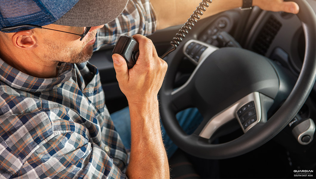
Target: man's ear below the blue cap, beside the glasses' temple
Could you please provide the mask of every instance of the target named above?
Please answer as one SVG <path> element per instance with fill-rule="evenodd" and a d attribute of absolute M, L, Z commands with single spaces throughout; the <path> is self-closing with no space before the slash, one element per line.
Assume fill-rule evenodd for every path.
<path fill-rule="evenodd" d="M 15 47 L 23 50 L 32 50 L 37 47 L 37 40 L 33 30 L 22 30 L 12 36 L 12 43 Z"/>

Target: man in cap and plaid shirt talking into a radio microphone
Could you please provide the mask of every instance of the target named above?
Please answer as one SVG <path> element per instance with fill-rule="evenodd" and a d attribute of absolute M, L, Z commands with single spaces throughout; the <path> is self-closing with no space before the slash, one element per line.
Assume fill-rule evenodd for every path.
<path fill-rule="evenodd" d="M 152 42 L 134 35 L 140 55 L 130 70 L 112 56 L 129 103 L 129 162 L 99 73 L 85 62 L 95 39 L 98 49 L 122 34 L 148 35 L 183 23 L 198 3 L 0 0 L 1 178 L 169 178 L 157 101 L 167 64 Z M 296 3 L 282 0 L 252 5 L 298 12 Z M 214 0 L 203 17 L 240 6 L 241 0 Z"/>

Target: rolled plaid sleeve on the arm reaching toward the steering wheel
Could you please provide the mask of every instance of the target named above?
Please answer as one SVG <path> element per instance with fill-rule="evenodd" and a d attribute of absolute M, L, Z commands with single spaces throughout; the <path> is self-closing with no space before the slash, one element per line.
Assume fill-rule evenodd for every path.
<path fill-rule="evenodd" d="M 156 31 L 155 11 L 149 0 L 129 0 L 121 15 L 98 29 L 94 51 L 114 45 L 121 35 L 150 35 Z"/>

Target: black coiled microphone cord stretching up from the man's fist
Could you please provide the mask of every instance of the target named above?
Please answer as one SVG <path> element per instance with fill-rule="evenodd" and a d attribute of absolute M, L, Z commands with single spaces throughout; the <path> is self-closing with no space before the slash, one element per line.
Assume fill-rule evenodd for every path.
<path fill-rule="evenodd" d="M 194 27 L 194 24 L 197 23 L 197 20 L 201 18 L 200 15 L 203 15 L 202 11 L 206 10 L 205 7 L 209 7 L 208 3 L 212 3 L 212 0 L 203 0 L 199 6 L 197 6 L 197 9 L 194 10 L 187 22 L 185 22 L 185 24 L 181 27 L 179 33 L 177 33 L 176 36 L 173 37 L 173 41 L 170 42 L 170 45 L 173 46 L 173 48 L 163 54 L 161 59 L 165 58 L 170 52 L 173 52 L 177 46 L 179 46 L 180 42 L 182 42 L 185 38 L 185 35 L 189 34 L 189 30 L 191 30 Z"/>

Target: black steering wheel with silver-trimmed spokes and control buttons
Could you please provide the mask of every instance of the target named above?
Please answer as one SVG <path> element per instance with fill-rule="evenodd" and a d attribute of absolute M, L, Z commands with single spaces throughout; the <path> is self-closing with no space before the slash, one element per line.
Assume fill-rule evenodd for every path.
<path fill-rule="evenodd" d="M 185 40 L 169 55 L 167 74 L 159 92 L 161 120 L 167 134 L 183 151 L 208 159 L 245 154 L 272 139 L 300 110 L 316 77 L 316 15 L 305 0 L 292 1 L 300 6 L 297 16 L 306 40 L 303 66 L 293 89 L 285 71 L 245 49 L 218 49 L 197 40 Z M 196 44 L 206 50 L 189 80 L 173 89 L 183 53 Z M 279 108 L 268 120 L 267 111 L 273 106 Z M 189 107 L 198 108 L 204 119 L 191 135 L 182 130 L 175 117 Z M 244 134 L 226 143 L 211 144 L 214 133 L 234 119 Z"/>

